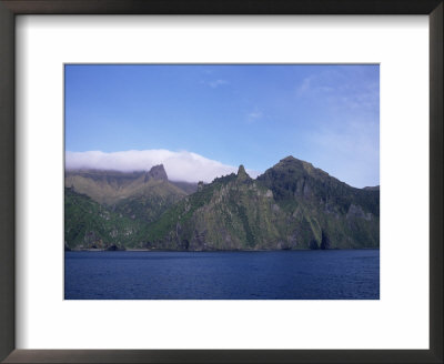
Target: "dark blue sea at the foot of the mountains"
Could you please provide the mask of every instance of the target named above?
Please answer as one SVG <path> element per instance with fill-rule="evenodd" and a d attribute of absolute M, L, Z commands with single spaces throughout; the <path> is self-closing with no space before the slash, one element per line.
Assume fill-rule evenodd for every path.
<path fill-rule="evenodd" d="M 65 252 L 65 300 L 379 300 L 380 251 Z"/>

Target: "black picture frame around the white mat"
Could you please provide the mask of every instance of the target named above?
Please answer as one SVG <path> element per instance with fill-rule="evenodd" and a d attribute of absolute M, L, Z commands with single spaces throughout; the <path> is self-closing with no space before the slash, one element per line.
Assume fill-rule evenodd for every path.
<path fill-rule="evenodd" d="M 0 0 L 0 360 L 4 363 L 443 363 L 443 0 Z M 16 350 L 14 22 L 18 14 L 427 14 L 430 350 Z"/>

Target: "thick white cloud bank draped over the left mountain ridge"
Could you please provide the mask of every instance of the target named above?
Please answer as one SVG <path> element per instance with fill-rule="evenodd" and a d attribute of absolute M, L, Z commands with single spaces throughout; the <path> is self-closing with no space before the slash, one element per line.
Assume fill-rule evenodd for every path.
<path fill-rule="evenodd" d="M 238 166 L 226 165 L 188 151 L 172 152 L 158 149 L 112 153 L 101 151 L 65 153 L 65 168 L 69 170 L 149 171 L 157 164 L 163 164 L 171 181 L 211 182 L 216 176 L 238 172 Z M 259 175 L 255 171 L 246 171 L 252 178 Z"/>

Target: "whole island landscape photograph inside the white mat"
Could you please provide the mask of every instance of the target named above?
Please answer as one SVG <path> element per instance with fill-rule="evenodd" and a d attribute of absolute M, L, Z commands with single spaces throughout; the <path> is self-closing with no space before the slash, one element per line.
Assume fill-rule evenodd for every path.
<path fill-rule="evenodd" d="M 63 73 L 64 300 L 380 300 L 379 64 Z"/>

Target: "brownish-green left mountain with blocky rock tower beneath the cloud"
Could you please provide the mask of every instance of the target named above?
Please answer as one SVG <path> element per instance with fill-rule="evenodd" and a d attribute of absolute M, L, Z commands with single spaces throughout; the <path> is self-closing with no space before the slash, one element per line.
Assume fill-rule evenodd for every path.
<path fill-rule="evenodd" d="M 67 171 L 64 183 L 67 249 L 139 246 L 148 224 L 188 194 L 162 164 L 148 172 Z"/>

